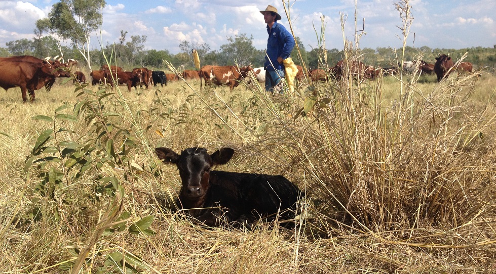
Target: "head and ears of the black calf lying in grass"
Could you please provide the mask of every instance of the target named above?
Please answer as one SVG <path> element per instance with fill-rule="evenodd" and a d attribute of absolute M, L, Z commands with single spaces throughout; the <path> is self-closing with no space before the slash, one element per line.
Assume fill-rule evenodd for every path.
<path fill-rule="evenodd" d="M 222 148 L 208 154 L 204 148 L 188 148 L 175 153 L 169 148 L 156 148 L 155 153 L 166 164 L 175 164 L 182 181 L 180 198 L 200 199 L 209 188 L 210 168 L 227 163 L 234 150 Z"/>

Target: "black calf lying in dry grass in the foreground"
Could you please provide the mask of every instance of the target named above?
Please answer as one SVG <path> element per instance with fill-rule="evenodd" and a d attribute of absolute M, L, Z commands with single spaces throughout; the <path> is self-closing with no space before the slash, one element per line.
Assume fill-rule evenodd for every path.
<path fill-rule="evenodd" d="M 209 155 L 204 148 L 188 148 L 179 155 L 168 148 L 156 148 L 155 153 L 179 169 L 182 188 L 178 207 L 205 225 L 240 227 L 260 218 L 273 220 L 278 212 L 281 220 L 294 219 L 300 191 L 284 176 L 210 170 L 227 163 L 233 149 L 223 148 Z"/>

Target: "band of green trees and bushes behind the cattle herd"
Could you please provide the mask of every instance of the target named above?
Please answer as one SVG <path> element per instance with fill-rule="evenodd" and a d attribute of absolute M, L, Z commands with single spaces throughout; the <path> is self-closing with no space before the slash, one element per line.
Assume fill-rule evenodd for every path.
<path fill-rule="evenodd" d="M 246 34 L 239 34 L 234 37 L 228 37 L 228 43 L 220 46 L 219 50 L 212 50 L 207 43 L 193 43 L 182 41 L 179 44 L 181 52 L 172 54 L 168 50 L 144 50 L 146 43 L 146 35 L 132 35 L 129 39 L 126 37 L 127 31 L 121 31 L 119 43 L 108 43 L 103 49 L 105 56 L 117 62 L 122 67 L 148 67 L 152 69 L 165 69 L 164 60 L 171 63 L 174 67 L 184 69 L 194 69 L 195 65 L 191 54 L 192 49 L 196 49 L 200 55 L 202 65 L 248 65 L 253 67 L 261 67 L 264 63 L 265 50 L 257 50 L 253 46 L 253 36 L 248 37 Z M 301 40 L 296 37 L 296 42 L 299 45 L 300 55 L 296 52 L 296 47 L 291 54 L 292 59 L 296 64 L 301 64 L 302 61 L 307 65 L 307 68 L 320 68 L 325 66 L 322 60 L 319 62 L 319 55 L 322 54 L 321 49 L 306 50 Z M 82 54 L 75 47 L 60 47 L 52 36 L 20 39 L 6 43 L 6 48 L 0 48 L 0 56 L 19 56 L 31 55 L 38 58 L 47 56 L 60 56 L 64 58 L 72 58 L 85 62 Z M 441 54 L 449 54 L 456 61 L 465 53 L 468 53 L 464 61 L 473 63 L 476 67 L 496 67 L 496 45 L 493 48 L 472 47 L 466 49 L 431 49 L 429 47 L 406 47 L 405 61 L 411 61 L 422 57 L 428 63 L 435 63 L 435 58 Z M 360 50 L 361 61 L 367 65 L 376 65 L 381 67 L 391 67 L 398 62 L 395 52 L 391 48 L 364 48 Z M 322 55 L 321 55 L 322 56 Z M 326 50 L 327 64 L 332 66 L 337 61 L 343 59 L 342 50 L 331 49 Z M 105 64 L 105 59 L 102 50 L 89 51 L 89 58 L 92 60 L 92 69 L 97 69 L 102 64 Z"/>

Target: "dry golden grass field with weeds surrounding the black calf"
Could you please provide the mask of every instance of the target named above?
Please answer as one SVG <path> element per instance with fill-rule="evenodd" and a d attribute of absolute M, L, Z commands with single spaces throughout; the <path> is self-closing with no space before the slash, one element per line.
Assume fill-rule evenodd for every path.
<path fill-rule="evenodd" d="M 494 273 L 496 76 L 411 79 L 276 97 L 70 81 L 32 104 L 2 89 L 0 272 Z M 180 178 L 153 151 L 193 146 L 294 181 L 300 225 L 207 230 L 171 213 Z"/>

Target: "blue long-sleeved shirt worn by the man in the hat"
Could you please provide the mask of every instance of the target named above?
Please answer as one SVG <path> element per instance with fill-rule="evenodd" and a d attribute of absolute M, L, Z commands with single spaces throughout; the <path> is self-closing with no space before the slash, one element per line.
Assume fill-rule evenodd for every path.
<path fill-rule="evenodd" d="M 278 22 L 272 25 L 272 29 L 267 26 L 267 33 L 269 33 L 269 39 L 267 39 L 267 55 L 263 66 L 266 70 L 274 70 L 272 65 L 278 70 L 284 70 L 284 64 L 279 64 L 277 58 L 280 56 L 284 60 L 289 57 L 294 47 L 293 35 Z"/>

